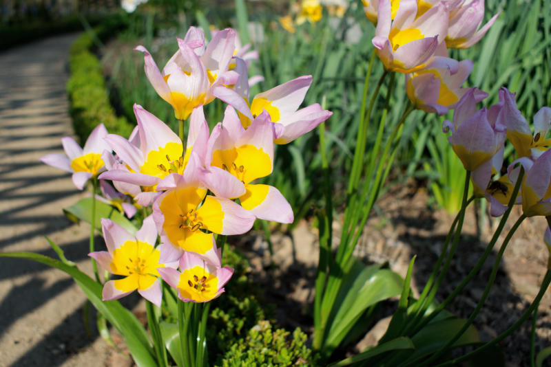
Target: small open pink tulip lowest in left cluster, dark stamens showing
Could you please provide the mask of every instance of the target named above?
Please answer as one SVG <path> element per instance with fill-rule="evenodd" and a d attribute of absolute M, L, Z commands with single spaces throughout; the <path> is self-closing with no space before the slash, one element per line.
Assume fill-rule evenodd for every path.
<path fill-rule="evenodd" d="M 185 252 L 180 258 L 180 271 L 165 267 L 158 272 L 170 287 L 178 289 L 180 300 L 208 302 L 224 292 L 223 287 L 231 278 L 233 269 Z"/>

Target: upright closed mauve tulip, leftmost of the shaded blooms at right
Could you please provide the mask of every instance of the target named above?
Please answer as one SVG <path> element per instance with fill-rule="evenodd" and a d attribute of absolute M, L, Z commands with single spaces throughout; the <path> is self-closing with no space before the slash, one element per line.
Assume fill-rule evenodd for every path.
<path fill-rule="evenodd" d="M 495 109 L 476 111 L 477 93 L 476 88 L 465 93 L 453 113 L 453 124 L 446 120 L 443 125 L 444 133 L 452 132 L 448 140 L 453 151 L 470 171 L 492 159 L 506 138 L 506 127 L 497 121 Z"/>

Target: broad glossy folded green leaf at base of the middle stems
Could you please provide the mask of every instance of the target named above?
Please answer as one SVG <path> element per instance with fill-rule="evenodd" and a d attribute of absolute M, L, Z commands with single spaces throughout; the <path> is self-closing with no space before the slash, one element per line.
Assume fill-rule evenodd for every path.
<path fill-rule="evenodd" d="M 339 346 L 364 311 L 372 304 L 398 296 L 402 283 L 402 278 L 389 269 L 380 269 L 380 265 L 365 266 L 355 260 L 344 276 L 339 294 L 342 302 L 335 304 L 337 312 L 324 348 L 332 351 Z"/>

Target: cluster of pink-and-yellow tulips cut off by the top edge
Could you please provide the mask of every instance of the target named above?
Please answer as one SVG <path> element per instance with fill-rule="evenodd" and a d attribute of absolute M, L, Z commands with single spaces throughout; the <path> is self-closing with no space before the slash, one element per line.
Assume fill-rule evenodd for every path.
<path fill-rule="evenodd" d="M 498 14 L 480 27 L 484 0 L 363 0 L 377 25 L 373 45 L 389 71 L 406 74 L 412 104 L 444 115 L 468 91 L 461 85 L 472 71 L 470 60 L 448 58 L 448 48 L 477 43 Z"/>

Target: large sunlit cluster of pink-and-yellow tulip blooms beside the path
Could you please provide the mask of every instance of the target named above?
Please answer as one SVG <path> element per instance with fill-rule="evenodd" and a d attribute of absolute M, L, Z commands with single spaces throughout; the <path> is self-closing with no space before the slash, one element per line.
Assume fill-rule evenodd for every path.
<path fill-rule="evenodd" d="M 255 181 L 271 174 L 275 144 L 311 131 L 331 112 L 319 104 L 299 109 L 311 76 L 249 101 L 249 86 L 261 80 L 249 79 L 250 61 L 258 57 L 249 47 L 241 47 L 229 28 L 216 32 L 207 44 L 202 30 L 191 27 L 185 38 L 178 38 L 178 52 L 162 72 L 145 47 L 136 47 L 144 54 L 145 74 L 159 96 L 171 104 L 176 118 L 189 118 L 185 142 L 134 104 L 137 126 L 129 139 L 107 133 L 100 124 L 83 149 L 65 137 L 67 157 L 42 158 L 74 172 L 73 181 L 81 190 L 89 179 L 99 179 L 102 200 L 129 217 L 137 208 L 149 214 L 136 234 L 102 220 L 107 251 L 90 256 L 118 276 L 105 282 L 104 300 L 137 289 L 159 306 L 160 278 L 178 290 L 181 300 L 212 300 L 233 273 L 222 267 L 218 236 L 243 234 L 257 218 L 293 222 L 293 210 L 281 192 Z M 229 105 L 222 122 L 210 131 L 203 106 L 215 98 Z"/>

